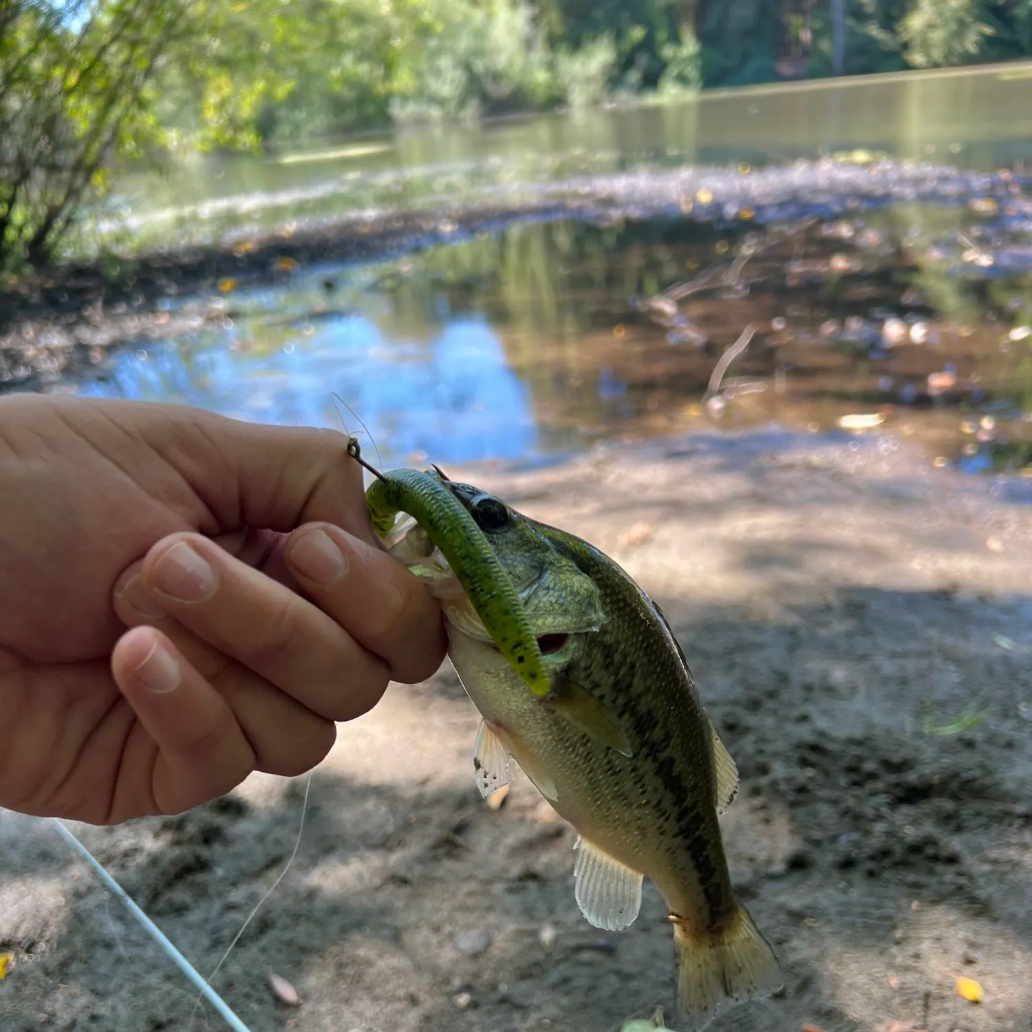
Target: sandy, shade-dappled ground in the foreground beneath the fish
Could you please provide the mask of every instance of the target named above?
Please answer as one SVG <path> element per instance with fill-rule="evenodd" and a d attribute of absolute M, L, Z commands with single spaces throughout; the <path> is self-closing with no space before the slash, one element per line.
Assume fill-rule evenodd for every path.
<path fill-rule="evenodd" d="M 774 431 L 449 473 L 588 538 L 672 619 L 741 769 L 734 880 L 786 974 L 714 1032 L 1032 1029 L 1032 508 L 889 439 Z M 969 706 L 975 727 L 929 733 Z M 499 810 L 480 801 L 476 727 L 446 668 L 341 728 L 297 859 L 216 979 L 254 1032 L 669 1013 L 658 895 L 626 932 L 586 925 L 572 831 L 522 777 Z M 303 788 L 255 776 L 185 816 L 74 827 L 208 972 L 289 857 Z M 3 813 L 0 850 L 3 1032 L 224 1027 L 191 1018 L 184 978 L 51 826 Z"/>

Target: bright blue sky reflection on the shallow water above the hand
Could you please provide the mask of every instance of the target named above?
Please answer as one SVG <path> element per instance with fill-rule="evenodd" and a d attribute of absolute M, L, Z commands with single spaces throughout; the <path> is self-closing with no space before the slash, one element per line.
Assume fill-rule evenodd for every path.
<path fill-rule="evenodd" d="M 460 315 L 426 341 L 389 340 L 369 318 L 324 313 L 287 325 L 225 319 L 195 340 L 126 350 L 79 393 L 178 401 L 236 419 L 337 426 L 340 395 L 388 464 L 515 458 L 537 449 L 529 391 L 487 321 Z"/>

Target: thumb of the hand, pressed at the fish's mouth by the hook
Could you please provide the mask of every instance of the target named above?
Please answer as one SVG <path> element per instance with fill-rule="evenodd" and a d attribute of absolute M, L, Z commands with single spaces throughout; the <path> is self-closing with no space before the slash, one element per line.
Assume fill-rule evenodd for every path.
<path fill-rule="evenodd" d="M 152 447 L 186 478 L 221 527 L 290 531 L 325 521 L 377 543 L 362 471 L 348 454 L 345 434 L 160 408 L 166 413 Z M 175 423 L 172 434 L 169 418 Z"/>

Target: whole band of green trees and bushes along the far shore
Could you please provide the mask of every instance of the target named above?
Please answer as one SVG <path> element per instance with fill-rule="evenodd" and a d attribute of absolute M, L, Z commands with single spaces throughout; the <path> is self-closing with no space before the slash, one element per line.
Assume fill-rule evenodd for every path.
<path fill-rule="evenodd" d="M 0 0 L 0 269 L 168 152 L 1020 57 L 1032 0 Z"/>

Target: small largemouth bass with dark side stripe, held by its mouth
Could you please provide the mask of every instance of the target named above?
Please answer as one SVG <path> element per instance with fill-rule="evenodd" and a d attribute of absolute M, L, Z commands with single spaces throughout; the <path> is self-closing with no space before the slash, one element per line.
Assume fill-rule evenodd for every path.
<path fill-rule="evenodd" d="M 437 467 L 425 476 L 494 553 L 547 676 L 547 694 L 527 690 L 426 528 L 399 519 L 385 546 L 439 600 L 449 658 L 482 717 L 473 759 L 481 795 L 510 783 L 515 761 L 573 826 L 574 896 L 598 928 L 633 924 L 651 879 L 673 926 L 677 1017 L 691 1032 L 777 991 L 780 965 L 735 897 L 718 823 L 738 771 L 663 611 L 588 542 Z"/>

